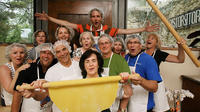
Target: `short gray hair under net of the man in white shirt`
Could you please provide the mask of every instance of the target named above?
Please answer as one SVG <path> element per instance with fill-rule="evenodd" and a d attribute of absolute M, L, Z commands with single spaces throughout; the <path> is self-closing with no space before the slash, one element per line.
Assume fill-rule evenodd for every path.
<path fill-rule="evenodd" d="M 58 40 L 58 41 L 56 41 L 56 42 L 54 43 L 54 45 L 53 45 L 54 53 L 56 53 L 56 52 L 55 52 L 55 49 L 56 49 L 56 47 L 59 46 L 59 45 L 65 46 L 65 47 L 68 49 L 68 51 L 71 53 L 71 47 L 69 46 L 69 44 L 68 44 L 68 42 L 67 42 L 66 40 Z"/>

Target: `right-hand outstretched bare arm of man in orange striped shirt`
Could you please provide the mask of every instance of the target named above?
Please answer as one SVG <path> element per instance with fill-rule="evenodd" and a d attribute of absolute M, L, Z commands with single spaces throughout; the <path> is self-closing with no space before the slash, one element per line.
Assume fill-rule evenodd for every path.
<path fill-rule="evenodd" d="M 159 25 L 153 24 L 150 25 L 150 22 L 147 22 L 146 27 L 144 28 L 131 28 L 131 29 L 119 29 L 118 34 L 134 34 L 140 32 L 155 32 L 159 29 Z"/>

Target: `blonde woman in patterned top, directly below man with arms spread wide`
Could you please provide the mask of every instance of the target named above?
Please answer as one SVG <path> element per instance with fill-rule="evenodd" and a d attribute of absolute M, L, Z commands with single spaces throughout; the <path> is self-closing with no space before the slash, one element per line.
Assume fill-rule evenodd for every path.
<path fill-rule="evenodd" d="M 90 32 L 83 32 L 80 35 L 79 38 L 79 42 L 81 44 L 82 47 L 77 48 L 74 52 L 73 52 L 73 58 L 77 61 L 80 60 L 82 54 L 89 50 L 89 49 L 93 49 L 95 50 L 95 48 L 93 48 L 94 45 L 94 38 L 92 36 L 92 34 Z"/>

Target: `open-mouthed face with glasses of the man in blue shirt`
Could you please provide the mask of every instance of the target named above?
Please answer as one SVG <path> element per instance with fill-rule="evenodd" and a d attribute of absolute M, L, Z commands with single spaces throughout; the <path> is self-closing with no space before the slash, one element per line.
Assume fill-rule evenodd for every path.
<path fill-rule="evenodd" d="M 142 44 L 137 38 L 133 38 L 127 42 L 127 48 L 132 56 L 136 56 L 141 52 Z"/>

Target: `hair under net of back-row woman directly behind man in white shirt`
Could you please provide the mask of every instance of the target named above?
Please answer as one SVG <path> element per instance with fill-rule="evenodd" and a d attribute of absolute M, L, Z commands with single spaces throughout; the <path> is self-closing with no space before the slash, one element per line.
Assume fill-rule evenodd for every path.
<path fill-rule="evenodd" d="M 72 29 L 71 27 L 68 27 L 68 26 L 58 26 L 57 29 L 56 29 L 56 32 L 55 32 L 55 37 L 56 39 L 58 40 L 58 31 L 60 30 L 60 28 L 65 28 L 68 30 L 70 36 L 69 36 L 69 41 L 72 40 L 72 38 L 74 37 L 75 35 L 75 32 L 74 32 L 74 29 Z"/>

